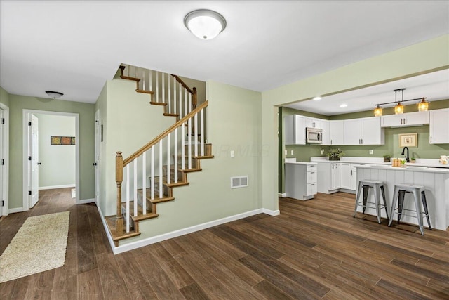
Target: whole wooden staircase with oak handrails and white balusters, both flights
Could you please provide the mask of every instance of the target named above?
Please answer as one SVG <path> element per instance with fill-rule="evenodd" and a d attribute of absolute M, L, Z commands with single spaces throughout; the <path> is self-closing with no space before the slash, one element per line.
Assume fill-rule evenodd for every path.
<path fill-rule="evenodd" d="M 189 185 L 187 174 L 213 158 L 204 138 L 208 101 L 197 105 L 195 88 L 176 75 L 130 65 L 119 69 L 122 79 L 136 82 L 137 93 L 148 94 L 151 105 L 163 106 L 163 115 L 177 121 L 130 157 L 116 152 L 116 215 L 105 218 L 116 247 L 140 235 L 139 223 L 157 218 L 157 205 L 175 200 L 173 189 Z"/>

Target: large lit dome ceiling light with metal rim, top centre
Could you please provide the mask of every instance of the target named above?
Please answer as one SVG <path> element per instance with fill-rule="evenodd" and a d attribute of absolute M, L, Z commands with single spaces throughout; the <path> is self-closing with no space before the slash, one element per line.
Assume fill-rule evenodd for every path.
<path fill-rule="evenodd" d="M 216 11 L 198 9 L 187 13 L 184 25 L 199 39 L 213 39 L 225 30 L 226 20 Z"/>

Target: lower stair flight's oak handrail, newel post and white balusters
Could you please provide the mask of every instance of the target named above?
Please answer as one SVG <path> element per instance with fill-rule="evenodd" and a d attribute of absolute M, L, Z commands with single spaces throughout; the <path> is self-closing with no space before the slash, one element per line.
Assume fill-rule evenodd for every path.
<path fill-rule="evenodd" d="M 114 224 L 111 224 L 114 227 L 113 240 L 116 245 L 122 238 L 140 234 L 138 221 L 159 216 L 156 204 L 174 200 L 171 189 L 188 185 L 187 173 L 201 171 L 199 159 L 213 157 L 211 145 L 205 144 L 203 134 L 204 111 L 207 106 L 208 101 L 201 103 L 128 158 L 123 159 L 121 152 L 116 152 L 116 216 Z M 186 134 L 185 124 L 192 128 L 193 119 L 195 123 L 199 119 L 199 124 L 194 127 L 198 130 L 195 129 L 193 134 Z M 180 134 L 178 131 L 181 131 Z M 156 155 L 158 152 L 159 155 Z M 159 176 L 156 176 L 157 171 Z M 126 190 L 124 195 L 123 188 Z M 125 198 L 124 202 L 122 196 Z"/>

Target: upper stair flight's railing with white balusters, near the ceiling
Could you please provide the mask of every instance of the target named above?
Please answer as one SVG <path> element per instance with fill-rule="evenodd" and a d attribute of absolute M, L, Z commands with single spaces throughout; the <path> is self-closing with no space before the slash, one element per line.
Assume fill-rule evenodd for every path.
<path fill-rule="evenodd" d="M 164 106 L 163 115 L 182 119 L 196 108 L 196 88 L 190 89 L 177 75 L 125 64 L 119 69 L 120 78 L 135 81 L 136 92 L 150 95 L 150 104 Z"/>

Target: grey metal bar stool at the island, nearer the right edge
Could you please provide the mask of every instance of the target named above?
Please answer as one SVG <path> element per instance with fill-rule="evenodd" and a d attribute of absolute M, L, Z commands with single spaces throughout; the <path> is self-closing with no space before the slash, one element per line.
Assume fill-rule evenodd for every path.
<path fill-rule="evenodd" d="M 429 218 L 429 210 L 427 209 L 427 201 L 426 201 L 426 193 L 424 191 L 424 187 L 420 185 L 413 185 L 413 184 L 396 184 L 394 185 L 394 193 L 393 193 L 393 204 L 391 205 L 391 214 L 394 214 L 393 211 L 398 211 L 396 214 L 398 214 L 398 223 L 401 221 L 401 216 L 403 215 L 402 211 L 413 211 L 411 209 L 404 209 L 404 196 L 406 193 L 412 193 L 413 194 L 413 200 L 415 202 L 415 212 L 416 216 L 410 215 L 410 214 L 404 214 L 406 216 L 413 216 L 418 219 L 418 226 L 420 226 L 421 235 L 424 235 L 424 227 L 423 227 L 423 218 L 422 215 L 426 216 L 427 219 L 427 225 L 429 225 L 429 229 L 432 229 L 430 225 L 430 218 Z M 424 213 L 421 209 L 421 203 L 420 203 L 420 195 L 421 195 L 421 202 L 422 206 L 424 207 Z M 398 208 L 395 209 L 396 203 L 398 202 Z M 388 226 L 391 226 L 391 222 L 393 221 L 393 217 L 391 216 L 391 219 L 388 223 Z"/>

